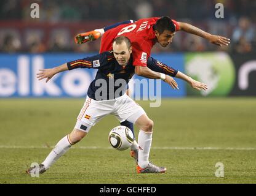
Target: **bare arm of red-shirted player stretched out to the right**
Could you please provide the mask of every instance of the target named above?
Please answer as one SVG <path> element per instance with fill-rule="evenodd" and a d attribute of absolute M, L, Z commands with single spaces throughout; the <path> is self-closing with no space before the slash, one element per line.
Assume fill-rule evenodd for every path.
<path fill-rule="evenodd" d="M 210 43 L 214 43 L 215 45 L 219 45 L 220 47 L 222 45 L 228 45 L 230 43 L 230 39 L 226 37 L 212 35 L 209 32 L 202 31 L 202 29 L 199 29 L 188 23 L 178 22 L 178 25 L 180 26 L 180 30 L 194 34 L 196 36 L 203 37 L 204 39 L 209 40 Z"/>

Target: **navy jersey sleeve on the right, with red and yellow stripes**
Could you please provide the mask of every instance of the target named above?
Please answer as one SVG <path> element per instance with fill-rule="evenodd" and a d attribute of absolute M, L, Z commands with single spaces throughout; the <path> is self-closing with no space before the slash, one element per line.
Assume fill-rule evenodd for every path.
<path fill-rule="evenodd" d="M 166 64 L 152 58 L 151 56 L 150 58 L 148 58 L 146 64 L 148 68 L 150 68 L 151 70 L 170 75 L 171 77 L 175 77 L 175 75 L 178 72 L 178 70 L 175 70 L 174 68 L 167 66 Z"/>

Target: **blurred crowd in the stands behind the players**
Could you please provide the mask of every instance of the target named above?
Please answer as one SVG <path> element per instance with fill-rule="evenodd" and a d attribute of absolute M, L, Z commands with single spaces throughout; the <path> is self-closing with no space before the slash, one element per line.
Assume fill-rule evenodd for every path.
<path fill-rule="evenodd" d="M 31 18 L 30 5 L 39 4 L 39 18 Z M 215 4 L 224 6 L 224 18 L 215 17 Z M 2 0 L 0 1 L 0 52 L 95 52 L 100 40 L 76 45 L 79 32 L 118 21 L 167 15 L 211 34 L 231 39 L 217 47 L 198 36 L 178 32 L 172 45 L 158 44 L 153 52 L 216 51 L 250 53 L 256 48 L 255 0 Z"/>

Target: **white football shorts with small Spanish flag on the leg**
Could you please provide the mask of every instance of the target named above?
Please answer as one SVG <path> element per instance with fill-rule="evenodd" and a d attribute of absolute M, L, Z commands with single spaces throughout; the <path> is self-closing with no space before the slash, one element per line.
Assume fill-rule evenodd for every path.
<path fill-rule="evenodd" d="M 127 94 L 116 99 L 100 101 L 87 96 L 74 128 L 87 132 L 84 129 L 85 126 L 94 126 L 106 115 L 114 115 L 120 122 L 127 120 L 135 124 L 137 119 L 143 114 L 145 114 L 143 108 L 127 96 Z"/>

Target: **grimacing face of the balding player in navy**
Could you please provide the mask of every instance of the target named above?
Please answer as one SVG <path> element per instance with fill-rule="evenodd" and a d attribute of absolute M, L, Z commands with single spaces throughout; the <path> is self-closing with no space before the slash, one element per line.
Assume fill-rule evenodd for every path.
<path fill-rule="evenodd" d="M 113 53 L 114 58 L 118 61 L 120 66 L 126 66 L 130 59 L 130 54 L 132 53 L 132 47 L 128 48 L 126 42 L 121 44 L 113 43 Z"/>

